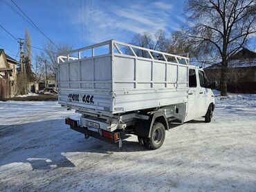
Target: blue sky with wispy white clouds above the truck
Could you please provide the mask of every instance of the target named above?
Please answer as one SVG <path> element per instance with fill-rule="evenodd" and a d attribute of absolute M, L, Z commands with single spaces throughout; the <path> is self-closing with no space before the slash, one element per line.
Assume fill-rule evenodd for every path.
<path fill-rule="evenodd" d="M 47 39 L 17 15 L 17 12 L 6 6 L 3 1 L 12 4 L 10 0 L 0 0 L 1 25 L 17 38 L 24 38 L 27 28 L 32 45 L 43 48 Z M 184 1 L 182 0 L 13 1 L 54 42 L 71 44 L 73 48 L 109 39 L 129 43 L 136 32 L 154 33 L 160 28 L 172 32 L 179 29 L 185 22 Z M 1 28 L 0 48 L 4 48 L 11 57 L 17 55 L 19 48 L 17 41 Z M 38 50 L 33 49 L 33 55 L 37 52 Z"/>

